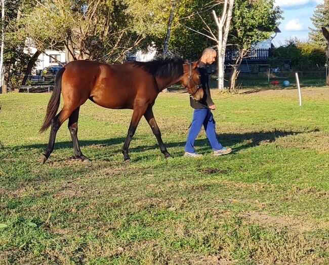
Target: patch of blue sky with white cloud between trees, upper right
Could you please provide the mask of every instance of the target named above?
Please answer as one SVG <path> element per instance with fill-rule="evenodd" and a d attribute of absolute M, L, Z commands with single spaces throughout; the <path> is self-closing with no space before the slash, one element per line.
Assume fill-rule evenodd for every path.
<path fill-rule="evenodd" d="M 279 29 L 281 33 L 277 33 L 273 40 L 275 46 L 285 43 L 290 37 L 297 36 L 299 40 L 306 41 L 308 39 L 309 27 L 312 27 L 310 18 L 316 5 L 323 4 L 323 0 L 276 0 L 275 4 L 283 10 Z"/>

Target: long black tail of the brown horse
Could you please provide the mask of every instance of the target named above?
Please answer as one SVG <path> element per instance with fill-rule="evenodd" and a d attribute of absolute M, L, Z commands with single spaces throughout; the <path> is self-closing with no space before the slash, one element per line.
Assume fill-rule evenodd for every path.
<path fill-rule="evenodd" d="M 59 101 L 61 99 L 61 89 L 62 89 L 62 75 L 65 71 L 65 68 L 61 68 L 58 70 L 55 77 L 55 86 L 53 90 L 53 94 L 48 102 L 46 117 L 43 126 L 40 128 L 39 132 L 42 133 L 46 131 L 52 123 L 53 118 L 55 117 L 58 107 Z"/>

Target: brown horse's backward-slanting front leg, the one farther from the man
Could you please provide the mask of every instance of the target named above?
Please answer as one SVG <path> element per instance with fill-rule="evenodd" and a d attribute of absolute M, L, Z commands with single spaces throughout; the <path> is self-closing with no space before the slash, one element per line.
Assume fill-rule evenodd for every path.
<path fill-rule="evenodd" d="M 147 109 L 147 106 L 148 105 L 145 104 L 145 105 L 138 105 L 138 106 L 134 107 L 133 117 L 130 122 L 128 134 L 127 134 L 124 146 L 122 147 L 122 154 L 124 154 L 125 163 L 130 162 L 130 157 L 128 155 L 129 144 L 136 132 L 136 128 L 138 126 L 139 121 L 141 120 L 142 116 L 144 115 L 145 110 Z"/>

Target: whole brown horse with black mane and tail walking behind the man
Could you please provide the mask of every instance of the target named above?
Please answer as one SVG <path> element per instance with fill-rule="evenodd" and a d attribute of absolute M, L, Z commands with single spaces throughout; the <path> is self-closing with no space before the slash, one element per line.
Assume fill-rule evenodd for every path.
<path fill-rule="evenodd" d="M 49 143 L 45 154 L 41 156 L 41 162 L 45 163 L 53 152 L 56 133 L 67 119 L 75 156 L 81 161 L 89 162 L 81 153 L 77 139 L 79 108 L 87 99 L 106 108 L 134 110 L 122 147 L 125 162 L 130 162 L 129 144 L 143 115 L 158 141 L 161 153 L 170 158 L 155 122 L 152 106 L 160 91 L 177 82 L 187 89 L 192 98 L 200 100 L 203 89 L 199 89 L 199 72 L 196 66 L 197 62 L 188 63 L 181 59 L 117 65 L 93 61 L 68 63 L 56 74 L 54 91 L 48 103 L 44 124 L 40 128 L 40 132 L 43 132 L 51 126 Z M 61 92 L 64 105 L 56 115 Z"/>

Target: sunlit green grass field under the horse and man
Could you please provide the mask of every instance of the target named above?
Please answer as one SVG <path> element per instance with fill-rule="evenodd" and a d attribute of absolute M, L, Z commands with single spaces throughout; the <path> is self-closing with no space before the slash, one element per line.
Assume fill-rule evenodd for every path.
<path fill-rule="evenodd" d="M 41 165 L 50 95 L 0 95 L 0 264 L 329 264 L 329 89 L 212 91 L 218 138 L 234 152 L 183 158 L 187 94 L 154 114 L 174 157 L 142 120 L 131 164 L 120 152 L 131 110 L 87 102 L 81 150 L 67 122 Z"/>

